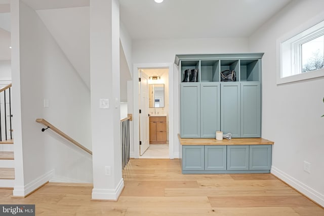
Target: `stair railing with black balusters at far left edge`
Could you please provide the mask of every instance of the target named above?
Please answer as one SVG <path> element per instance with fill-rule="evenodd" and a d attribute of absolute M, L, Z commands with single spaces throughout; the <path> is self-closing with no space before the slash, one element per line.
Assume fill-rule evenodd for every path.
<path fill-rule="evenodd" d="M 0 89 L 0 142 L 12 140 L 11 87 L 10 83 Z"/>

